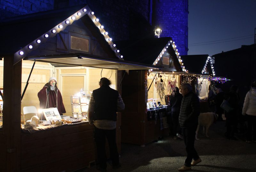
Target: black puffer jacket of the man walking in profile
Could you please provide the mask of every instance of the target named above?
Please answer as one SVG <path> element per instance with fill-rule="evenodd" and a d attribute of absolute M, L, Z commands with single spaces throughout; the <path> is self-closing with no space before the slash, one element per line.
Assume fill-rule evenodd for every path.
<path fill-rule="evenodd" d="M 180 106 L 180 127 L 192 127 L 198 125 L 200 114 L 199 99 L 192 91 L 182 98 Z"/>

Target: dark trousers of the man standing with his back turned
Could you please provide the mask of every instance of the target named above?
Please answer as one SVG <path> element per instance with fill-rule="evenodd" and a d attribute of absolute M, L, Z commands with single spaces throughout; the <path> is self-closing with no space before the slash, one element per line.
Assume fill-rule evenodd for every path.
<path fill-rule="evenodd" d="M 116 146 L 116 129 L 114 130 L 103 130 L 94 126 L 94 140 L 97 147 L 97 156 L 99 165 L 101 168 L 107 168 L 107 156 L 106 156 L 106 137 L 108 140 L 108 147 L 110 152 L 110 158 L 112 159 L 112 165 L 116 166 L 119 164 L 119 154 Z"/>

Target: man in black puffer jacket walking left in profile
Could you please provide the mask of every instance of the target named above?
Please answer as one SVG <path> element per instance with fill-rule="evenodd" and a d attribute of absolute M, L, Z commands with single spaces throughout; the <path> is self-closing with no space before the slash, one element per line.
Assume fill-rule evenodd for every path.
<path fill-rule="evenodd" d="M 185 171 L 191 169 L 191 166 L 201 162 L 194 147 L 200 107 L 199 99 L 196 94 L 192 92 L 192 86 L 189 83 L 183 83 L 181 85 L 181 94 L 183 98 L 180 106 L 179 123 L 186 145 L 187 159 L 185 160 L 184 166 L 178 170 Z M 193 162 L 191 162 L 192 159 L 194 160 Z"/>

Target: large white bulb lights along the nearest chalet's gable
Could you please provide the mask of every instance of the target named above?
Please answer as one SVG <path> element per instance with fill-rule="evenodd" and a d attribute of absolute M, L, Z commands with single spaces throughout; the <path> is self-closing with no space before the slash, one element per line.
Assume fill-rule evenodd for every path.
<path fill-rule="evenodd" d="M 47 41 L 47 39 L 54 37 L 57 33 L 60 31 L 63 31 L 68 25 L 71 25 L 74 21 L 82 18 L 84 15 L 88 15 L 93 23 L 99 28 L 100 33 L 104 36 L 108 44 L 110 45 L 111 49 L 115 52 L 116 57 L 118 57 L 120 60 L 123 59 L 123 55 L 120 54 L 120 51 L 116 48 L 116 44 L 112 42 L 112 38 L 109 37 L 108 32 L 105 31 L 104 26 L 100 24 L 100 19 L 96 18 L 94 15 L 94 12 L 86 5 L 84 8 L 80 9 L 79 11 L 76 11 L 76 13 L 69 16 L 67 19 L 35 39 L 34 41 L 30 42 L 25 47 L 22 47 L 19 51 L 17 51 L 14 56 L 20 58 L 24 58 L 26 54 L 31 52 L 32 50 L 36 49 L 40 44 Z"/>

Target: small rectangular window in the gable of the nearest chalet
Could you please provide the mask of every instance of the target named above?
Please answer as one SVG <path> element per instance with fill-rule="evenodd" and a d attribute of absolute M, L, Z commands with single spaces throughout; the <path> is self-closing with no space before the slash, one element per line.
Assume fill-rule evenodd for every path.
<path fill-rule="evenodd" d="M 89 52 L 89 40 L 71 36 L 70 48 L 73 50 Z"/>

